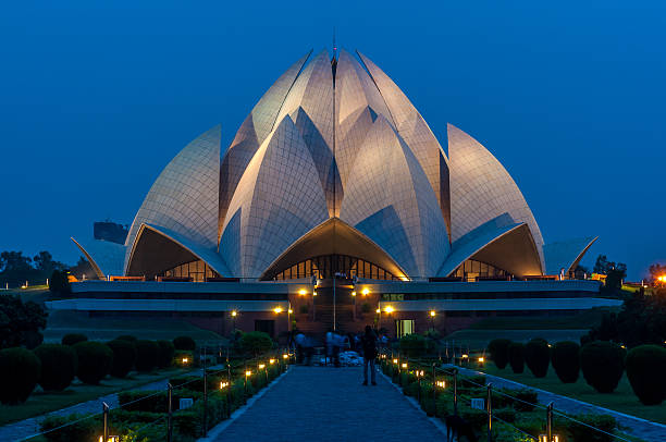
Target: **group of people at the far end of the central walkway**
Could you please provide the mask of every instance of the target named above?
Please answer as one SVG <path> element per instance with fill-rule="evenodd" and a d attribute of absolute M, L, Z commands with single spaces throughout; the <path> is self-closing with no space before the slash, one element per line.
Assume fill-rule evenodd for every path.
<path fill-rule="evenodd" d="M 363 357 L 363 385 L 368 385 L 368 370 L 370 370 L 370 382 L 377 385 L 374 359 L 379 353 L 378 347 L 385 345 L 386 336 L 378 336 L 372 327 L 366 326 L 365 332 L 360 334 L 344 335 L 335 330 L 329 330 L 325 335 L 325 356 L 335 367 L 340 367 L 340 353 L 343 348 L 349 348 Z M 320 342 L 311 336 L 297 332 L 292 345 L 296 347 L 297 364 L 311 365 L 314 348 Z"/>

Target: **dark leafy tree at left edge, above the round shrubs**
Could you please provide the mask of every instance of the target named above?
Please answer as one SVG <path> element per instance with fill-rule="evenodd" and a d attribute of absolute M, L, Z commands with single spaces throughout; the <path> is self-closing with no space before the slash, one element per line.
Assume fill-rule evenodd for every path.
<path fill-rule="evenodd" d="M 39 304 L 24 303 L 20 296 L 0 296 L 0 348 L 41 343 L 47 312 Z"/>

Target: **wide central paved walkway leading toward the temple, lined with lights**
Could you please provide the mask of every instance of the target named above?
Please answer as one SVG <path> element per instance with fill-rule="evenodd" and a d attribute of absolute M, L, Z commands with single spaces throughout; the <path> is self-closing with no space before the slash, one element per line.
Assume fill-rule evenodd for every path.
<path fill-rule="evenodd" d="M 442 441 L 445 435 L 381 376 L 360 368 L 293 367 L 215 441 Z"/>

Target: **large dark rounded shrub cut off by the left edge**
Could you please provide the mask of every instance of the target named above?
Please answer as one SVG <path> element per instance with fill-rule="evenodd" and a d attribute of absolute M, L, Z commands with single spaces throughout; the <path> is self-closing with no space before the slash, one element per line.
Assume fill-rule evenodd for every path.
<path fill-rule="evenodd" d="M 39 381 L 41 363 L 29 349 L 12 347 L 0 351 L 0 403 L 25 402 Z"/>

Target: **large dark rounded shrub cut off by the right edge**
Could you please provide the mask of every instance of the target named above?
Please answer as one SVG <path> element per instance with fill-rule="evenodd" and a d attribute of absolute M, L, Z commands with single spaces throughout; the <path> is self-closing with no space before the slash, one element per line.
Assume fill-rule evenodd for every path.
<path fill-rule="evenodd" d="M 659 405 L 666 400 L 666 348 L 640 345 L 627 353 L 627 378 L 643 405 Z"/>

